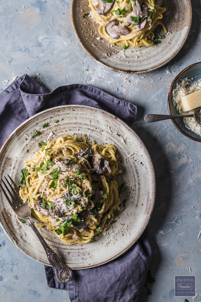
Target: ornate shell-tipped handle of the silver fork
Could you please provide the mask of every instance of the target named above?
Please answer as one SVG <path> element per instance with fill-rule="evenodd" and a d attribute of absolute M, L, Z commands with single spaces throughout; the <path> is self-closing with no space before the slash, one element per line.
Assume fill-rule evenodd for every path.
<path fill-rule="evenodd" d="M 55 254 L 55 252 L 53 252 L 53 250 L 45 242 L 45 240 L 42 238 L 41 234 L 37 230 L 32 218 L 31 217 L 26 217 L 25 220 L 28 223 L 28 225 L 32 227 L 32 229 L 34 230 L 34 232 L 38 236 L 38 239 L 42 243 L 42 246 L 44 247 L 44 249 L 46 251 L 48 260 L 52 264 L 52 267 L 55 270 L 55 275 L 56 275 L 57 280 L 60 283 L 68 282 L 70 280 L 70 278 L 72 277 L 72 272 L 71 272 L 70 268 L 68 268 L 67 266 L 65 266 L 61 262 L 59 257 Z"/>

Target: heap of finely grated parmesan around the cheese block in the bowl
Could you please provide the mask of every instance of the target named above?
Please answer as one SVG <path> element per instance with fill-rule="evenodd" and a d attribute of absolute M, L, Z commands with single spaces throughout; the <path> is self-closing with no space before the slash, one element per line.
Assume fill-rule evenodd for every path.
<path fill-rule="evenodd" d="M 180 114 L 186 114 L 181 108 L 181 98 L 201 89 L 201 79 L 195 82 L 193 82 L 192 79 L 182 79 L 181 82 L 177 83 L 176 88 L 172 92 L 173 105 Z M 195 109 L 188 111 L 189 114 L 193 114 L 194 112 Z M 201 136 L 201 125 L 196 122 L 194 117 L 185 117 L 183 118 L 183 121 L 187 129 Z"/>

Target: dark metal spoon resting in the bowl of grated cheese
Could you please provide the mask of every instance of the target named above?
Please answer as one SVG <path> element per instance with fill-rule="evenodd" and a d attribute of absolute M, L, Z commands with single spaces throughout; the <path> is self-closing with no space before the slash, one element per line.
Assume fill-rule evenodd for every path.
<path fill-rule="evenodd" d="M 159 120 L 168 120 L 171 118 L 178 118 L 178 117 L 195 117 L 198 124 L 201 124 L 201 116 L 200 116 L 201 107 L 198 107 L 194 114 L 177 114 L 177 115 L 161 115 L 161 114 L 146 114 L 144 120 L 147 123 L 157 122 Z"/>

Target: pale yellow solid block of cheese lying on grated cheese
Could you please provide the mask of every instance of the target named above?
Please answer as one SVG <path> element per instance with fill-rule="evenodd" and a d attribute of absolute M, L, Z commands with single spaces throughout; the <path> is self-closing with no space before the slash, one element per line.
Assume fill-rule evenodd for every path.
<path fill-rule="evenodd" d="M 189 111 L 201 106 L 201 89 L 181 98 L 182 111 Z"/>

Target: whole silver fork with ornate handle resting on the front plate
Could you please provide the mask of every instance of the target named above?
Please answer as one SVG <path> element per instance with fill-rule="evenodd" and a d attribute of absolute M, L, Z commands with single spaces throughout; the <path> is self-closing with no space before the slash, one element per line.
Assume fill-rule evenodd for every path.
<path fill-rule="evenodd" d="M 14 188 L 18 192 L 17 185 L 14 183 L 14 181 L 12 180 L 12 178 L 9 175 L 8 175 L 8 177 L 11 180 L 12 184 L 14 185 Z M 65 266 L 61 262 L 59 257 L 55 254 L 55 252 L 53 252 L 53 250 L 49 247 L 49 245 L 42 238 L 41 234 L 37 230 L 32 218 L 31 218 L 31 208 L 30 208 L 30 206 L 28 204 L 24 204 L 22 202 L 21 198 L 16 193 L 14 188 L 11 186 L 8 179 L 6 177 L 5 177 L 5 179 L 8 183 L 8 185 L 9 185 L 9 187 L 11 188 L 11 191 L 13 192 L 13 194 L 12 194 L 11 191 L 9 190 L 9 188 L 7 187 L 7 185 L 5 184 L 5 182 L 2 179 L 2 182 L 5 185 L 5 188 L 8 191 L 11 199 L 6 194 L 6 192 L 5 192 L 4 188 L 2 187 L 1 183 L 0 183 L 0 187 L 2 189 L 2 192 L 5 195 L 6 199 L 8 200 L 9 204 L 11 205 L 12 209 L 14 210 L 15 214 L 17 215 L 18 218 L 25 220 L 28 223 L 28 225 L 32 227 L 32 229 L 34 230 L 34 232 L 38 236 L 38 239 L 40 240 L 40 242 L 42 243 L 42 246 L 44 247 L 44 249 L 46 251 L 48 260 L 49 260 L 50 264 L 52 265 L 52 267 L 55 270 L 55 275 L 56 275 L 57 280 L 60 283 L 68 282 L 70 280 L 70 278 L 72 277 L 71 269 L 68 268 L 67 266 Z"/>

